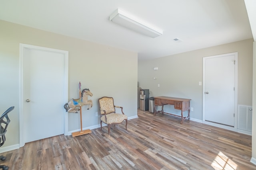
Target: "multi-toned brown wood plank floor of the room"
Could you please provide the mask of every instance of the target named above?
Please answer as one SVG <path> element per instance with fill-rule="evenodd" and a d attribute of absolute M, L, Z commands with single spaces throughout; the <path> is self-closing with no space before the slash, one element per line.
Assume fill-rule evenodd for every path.
<path fill-rule="evenodd" d="M 59 135 L 2 153 L 9 170 L 255 170 L 251 136 L 170 115 L 138 118 L 78 137 Z M 8 139 L 7 139 L 8 140 Z"/>

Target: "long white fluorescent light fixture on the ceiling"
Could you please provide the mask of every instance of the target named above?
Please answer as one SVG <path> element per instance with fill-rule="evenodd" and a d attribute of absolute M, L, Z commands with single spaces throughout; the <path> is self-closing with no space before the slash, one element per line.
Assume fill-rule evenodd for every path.
<path fill-rule="evenodd" d="M 138 20 L 136 17 L 123 12 L 120 9 L 117 9 L 110 17 L 110 21 L 118 23 L 126 28 L 132 29 L 138 33 L 147 35 L 149 37 L 155 38 L 163 34 L 163 31 L 156 29 L 151 25 L 144 23 L 143 21 Z"/>

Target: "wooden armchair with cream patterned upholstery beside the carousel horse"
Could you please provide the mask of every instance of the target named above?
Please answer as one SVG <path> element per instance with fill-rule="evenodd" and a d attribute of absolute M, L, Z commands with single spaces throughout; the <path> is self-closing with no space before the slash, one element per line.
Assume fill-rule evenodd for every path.
<path fill-rule="evenodd" d="M 127 130 L 127 116 L 123 112 L 123 107 L 115 106 L 114 99 L 110 97 L 102 97 L 99 99 L 100 106 L 100 130 L 102 130 L 102 122 L 108 125 L 108 136 L 110 135 L 110 126 L 120 124 L 126 121 L 125 128 Z M 122 113 L 116 113 L 116 108 L 121 109 Z"/>

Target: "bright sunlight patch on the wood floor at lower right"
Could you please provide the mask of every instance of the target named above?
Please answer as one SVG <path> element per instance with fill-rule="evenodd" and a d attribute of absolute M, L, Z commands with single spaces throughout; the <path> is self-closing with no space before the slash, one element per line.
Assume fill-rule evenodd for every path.
<path fill-rule="evenodd" d="M 211 166 L 215 170 L 236 170 L 237 164 L 233 162 L 228 156 L 219 152 L 212 162 Z"/>

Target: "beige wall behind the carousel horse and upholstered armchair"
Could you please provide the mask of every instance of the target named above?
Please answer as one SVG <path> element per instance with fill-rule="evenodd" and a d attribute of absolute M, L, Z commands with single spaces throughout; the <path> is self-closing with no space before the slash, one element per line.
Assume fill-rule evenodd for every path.
<path fill-rule="evenodd" d="M 79 98 L 79 81 L 94 95 L 94 106 L 82 112 L 83 127 L 99 125 L 102 96 L 114 97 L 128 117 L 137 115 L 137 53 L 0 20 L 0 113 L 15 106 L 3 147 L 19 144 L 20 43 L 69 51 L 68 98 Z M 79 114 L 69 113 L 68 122 L 68 131 L 80 129 Z"/>

